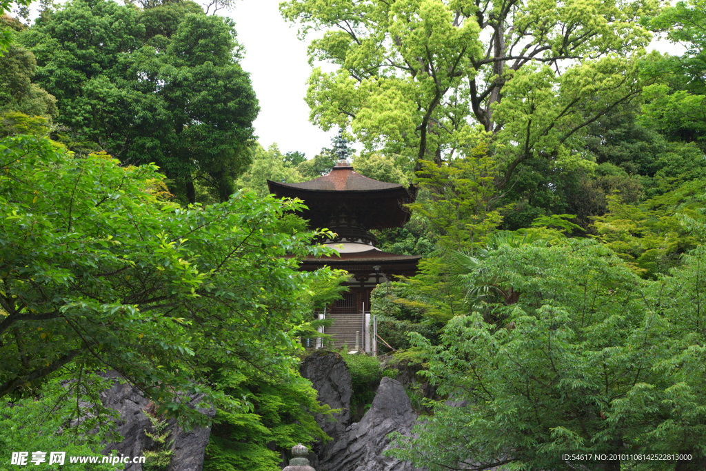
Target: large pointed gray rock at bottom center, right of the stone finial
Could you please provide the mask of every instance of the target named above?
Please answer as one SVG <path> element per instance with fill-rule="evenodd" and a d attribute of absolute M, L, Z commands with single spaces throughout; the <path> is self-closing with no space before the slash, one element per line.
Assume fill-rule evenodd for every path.
<path fill-rule="evenodd" d="M 390 448 L 388 434 L 411 434 L 417 414 L 399 381 L 384 377 L 363 419 L 319 455 L 320 471 L 421 471 L 411 463 L 383 456 Z"/>

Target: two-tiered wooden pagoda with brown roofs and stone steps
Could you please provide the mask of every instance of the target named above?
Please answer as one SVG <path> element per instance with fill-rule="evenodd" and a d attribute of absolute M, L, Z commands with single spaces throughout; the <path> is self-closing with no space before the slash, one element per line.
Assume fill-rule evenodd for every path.
<path fill-rule="evenodd" d="M 405 205 L 414 202 L 417 189 L 354 172 L 347 162 L 345 141 L 337 147 L 342 159 L 323 177 L 303 183 L 268 180 L 268 186 L 270 193 L 279 198 L 304 201 L 309 209 L 299 215 L 309 220 L 310 227 L 335 232 L 335 238 L 325 240 L 324 244 L 336 249 L 339 256 L 308 256 L 302 261 L 301 270 L 330 266 L 351 275 L 347 282 L 349 291 L 325 311 L 325 318 L 333 320 L 333 326 L 326 328 L 325 333 L 333 336 L 334 347 L 345 344 L 353 350 L 357 346 L 374 354 L 377 335 L 370 316 L 370 293 L 390 278 L 414 275 L 421 256 L 381 251 L 376 248 L 376 238 L 370 231 L 405 225 L 411 216 Z"/>

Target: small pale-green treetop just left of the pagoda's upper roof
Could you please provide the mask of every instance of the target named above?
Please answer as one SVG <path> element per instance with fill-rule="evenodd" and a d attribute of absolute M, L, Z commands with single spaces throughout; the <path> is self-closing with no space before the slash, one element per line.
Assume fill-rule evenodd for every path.
<path fill-rule="evenodd" d="M 258 196 L 270 193 L 267 181 L 284 181 L 285 183 L 298 183 L 304 181 L 297 167 L 282 155 L 277 144 L 270 145 L 268 150 L 259 144 L 253 146 L 252 163 L 250 167 L 235 182 L 239 189 L 255 191 Z"/>

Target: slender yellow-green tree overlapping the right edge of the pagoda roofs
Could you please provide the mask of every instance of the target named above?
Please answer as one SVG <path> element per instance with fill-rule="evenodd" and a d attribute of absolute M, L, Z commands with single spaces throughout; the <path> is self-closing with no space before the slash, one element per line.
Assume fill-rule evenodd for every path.
<path fill-rule="evenodd" d="M 409 205 L 413 217 L 422 220 L 426 229 L 426 234 L 409 245 L 424 249 L 424 242 L 429 243 L 426 237 L 433 237 L 435 246 L 419 261 L 419 273 L 407 280 L 413 290 L 406 291 L 396 302 L 423 308 L 430 322 L 447 323 L 467 312 L 463 287 L 449 270 L 448 254 L 476 249 L 502 222 L 497 208 L 501 195 L 493 183 L 496 162 L 486 155 L 484 144 L 477 145 L 470 154 L 441 165 L 423 161 L 416 180 L 419 196 Z M 392 247 L 403 249 L 400 245 L 395 243 Z"/>

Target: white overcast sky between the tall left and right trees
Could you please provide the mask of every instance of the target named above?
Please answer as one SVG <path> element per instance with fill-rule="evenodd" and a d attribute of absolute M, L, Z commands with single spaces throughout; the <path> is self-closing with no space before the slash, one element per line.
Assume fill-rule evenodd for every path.
<path fill-rule="evenodd" d="M 330 146 L 337 130 L 321 131 L 309 122 L 309 107 L 304 102 L 306 80 L 311 73 L 306 43 L 297 39 L 297 26 L 280 16 L 280 0 L 240 0 L 232 11 L 222 13 L 237 23 L 238 38 L 246 47 L 242 61 L 260 100 L 255 132 L 260 143 L 279 145 L 282 153 L 299 150 L 311 158 L 322 147 Z M 666 41 L 656 49 L 679 54 Z M 331 70 L 330 66 L 328 67 Z"/>

